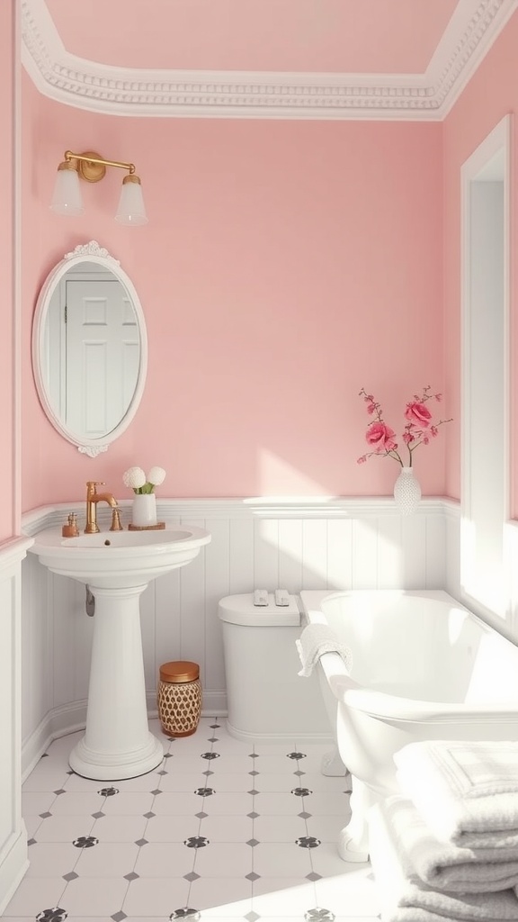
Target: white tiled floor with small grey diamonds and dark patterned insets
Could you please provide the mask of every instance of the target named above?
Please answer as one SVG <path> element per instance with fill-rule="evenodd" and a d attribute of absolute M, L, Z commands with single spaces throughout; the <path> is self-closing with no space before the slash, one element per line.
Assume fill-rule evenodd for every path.
<path fill-rule="evenodd" d="M 30 867 L 4 922 L 377 917 L 370 866 L 336 853 L 349 778 L 320 774 L 329 747 L 251 746 L 223 718 L 184 739 L 150 727 L 165 759 L 127 781 L 71 772 L 81 734 L 50 746 L 23 786 Z"/>

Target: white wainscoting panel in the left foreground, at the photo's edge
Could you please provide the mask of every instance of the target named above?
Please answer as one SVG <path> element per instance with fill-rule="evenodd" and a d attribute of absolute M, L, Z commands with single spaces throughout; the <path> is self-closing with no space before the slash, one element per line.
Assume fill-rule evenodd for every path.
<path fill-rule="evenodd" d="M 0 546 L 0 915 L 29 867 L 21 818 L 20 561 L 31 539 Z"/>

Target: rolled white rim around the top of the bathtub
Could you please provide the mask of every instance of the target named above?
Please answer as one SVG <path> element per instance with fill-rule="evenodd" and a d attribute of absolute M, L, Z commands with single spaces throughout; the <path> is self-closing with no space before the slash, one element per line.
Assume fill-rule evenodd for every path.
<path fill-rule="evenodd" d="M 443 589 L 341 589 L 338 591 L 305 589 L 300 592 L 303 622 L 304 624 L 326 623 L 321 608 L 324 599 L 375 593 L 389 597 L 424 597 L 451 602 L 455 608 L 464 609 L 471 618 L 477 621 L 484 632 L 500 633 Z M 512 641 L 503 634 L 500 636 L 508 644 L 512 644 Z M 509 723 L 510 717 L 513 716 L 518 728 L 518 708 L 512 703 L 430 702 L 418 698 L 403 698 L 385 691 L 374 691 L 351 678 L 344 660 L 337 653 L 325 653 L 321 656 L 319 667 L 323 669 L 325 679 L 338 702 L 345 703 L 374 718 L 408 723 L 422 723 L 426 720 L 435 724 L 449 724 L 462 719 L 465 723 L 475 724 L 481 720 L 490 720 L 491 723 Z"/>

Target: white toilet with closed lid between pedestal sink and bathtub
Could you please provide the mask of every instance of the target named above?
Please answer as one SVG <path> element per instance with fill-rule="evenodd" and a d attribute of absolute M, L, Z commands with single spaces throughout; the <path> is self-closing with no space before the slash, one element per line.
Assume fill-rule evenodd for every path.
<path fill-rule="evenodd" d="M 247 593 L 222 598 L 218 605 L 231 736 L 265 743 L 289 739 L 298 745 L 331 741 L 317 670 L 307 678 L 298 675 L 298 599 L 286 593 L 288 604 L 279 606 L 268 593 L 266 605 L 253 601 L 253 593 Z"/>

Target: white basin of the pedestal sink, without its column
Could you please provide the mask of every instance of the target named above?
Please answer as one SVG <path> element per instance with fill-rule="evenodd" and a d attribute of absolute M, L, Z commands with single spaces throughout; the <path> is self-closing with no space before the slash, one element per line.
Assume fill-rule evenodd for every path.
<path fill-rule="evenodd" d="M 147 531 L 103 531 L 97 535 L 63 538 L 61 528 L 37 535 L 32 553 L 62 576 L 94 587 L 147 585 L 161 573 L 194 560 L 210 541 L 203 528 L 171 526 Z"/>

